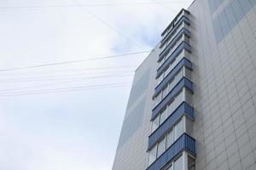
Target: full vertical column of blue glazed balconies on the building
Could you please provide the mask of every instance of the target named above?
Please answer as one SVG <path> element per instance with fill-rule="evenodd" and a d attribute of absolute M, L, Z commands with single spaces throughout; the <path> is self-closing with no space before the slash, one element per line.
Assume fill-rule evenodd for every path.
<path fill-rule="evenodd" d="M 189 11 L 182 9 L 162 33 L 147 170 L 195 169 L 189 25 Z"/>

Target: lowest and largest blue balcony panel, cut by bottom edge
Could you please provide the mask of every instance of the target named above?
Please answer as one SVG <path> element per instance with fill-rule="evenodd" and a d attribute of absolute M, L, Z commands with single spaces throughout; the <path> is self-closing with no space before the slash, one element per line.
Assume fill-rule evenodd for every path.
<path fill-rule="evenodd" d="M 173 161 L 173 159 L 183 152 L 183 150 L 189 153 L 195 154 L 195 139 L 188 134 L 183 133 L 179 139 L 177 139 L 160 157 L 158 157 L 147 170 L 160 170 L 166 165 L 166 163 Z"/>

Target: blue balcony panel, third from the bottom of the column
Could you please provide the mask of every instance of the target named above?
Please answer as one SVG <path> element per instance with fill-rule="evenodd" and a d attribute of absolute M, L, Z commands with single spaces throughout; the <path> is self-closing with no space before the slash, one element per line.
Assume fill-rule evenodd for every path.
<path fill-rule="evenodd" d="M 186 77 L 183 77 L 179 82 L 177 82 L 176 86 L 172 88 L 171 92 L 169 92 L 169 94 L 167 94 L 166 97 L 160 101 L 160 104 L 154 107 L 152 110 L 152 116 L 157 116 L 157 114 L 159 114 L 160 111 L 162 111 L 183 88 L 187 88 L 191 93 L 193 93 L 193 83 Z"/>

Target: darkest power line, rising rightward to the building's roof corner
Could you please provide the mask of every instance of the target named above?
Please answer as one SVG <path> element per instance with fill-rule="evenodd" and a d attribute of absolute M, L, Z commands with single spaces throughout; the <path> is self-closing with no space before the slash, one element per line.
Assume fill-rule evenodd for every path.
<path fill-rule="evenodd" d="M 65 62 L 47 63 L 47 64 L 42 64 L 42 65 L 30 65 L 30 66 L 23 66 L 23 67 L 0 69 L 0 72 L 1 71 L 15 71 L 15 70 L 21 70 L 21 69 L 31 69 L 31 68 L 38 68 L 38 67 L 52 66 L 52 65 L 66 65 L 66 64 L 71 64 L 71 63 L 78 63 L 78 62 L 99 60 L 99 59 L 113 59 L 113 58 L 119 58 L 119 57 L 123 57 L 123 56 L 127 56 L 127 55 L 145 54 L 145 53 L 149 53 L 149 52 L 150 51 L 140 51 L 140 52 L 129 53 L 129 54 L 107 55 L 107 56 L 91 58 L 91 59 L 78 59 L 78 60 L 71 60 L 71 61 L 65 61 Z"/>

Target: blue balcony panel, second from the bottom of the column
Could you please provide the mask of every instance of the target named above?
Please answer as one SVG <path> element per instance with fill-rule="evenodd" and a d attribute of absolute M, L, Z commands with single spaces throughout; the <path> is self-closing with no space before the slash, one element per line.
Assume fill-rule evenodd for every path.
<path fill-rule="evenodd" d="M 156 142 L 165 136 L 166 133 L 177 123 L 182 116 L 188 116 L 190 119 L 195 120 L 194 109 L 186 102 L 183 102 L 172 112 L 170 116 L 158 127 L 154 133 L 148 137 L 148 149 L 150 149 Z M 154 119 L 154 117 L 152 117 Z"/>

